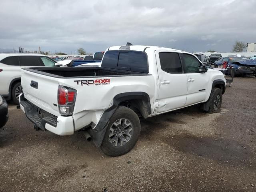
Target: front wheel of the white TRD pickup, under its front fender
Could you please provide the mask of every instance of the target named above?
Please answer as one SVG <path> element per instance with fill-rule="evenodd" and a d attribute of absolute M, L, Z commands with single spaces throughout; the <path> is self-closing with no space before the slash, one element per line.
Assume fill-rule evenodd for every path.
<path fill-rule="evenodd" d="M 219 102 L 218 102 L 218 98 L 219 98 Z M 209 110 L 207 111 L 208 113 L 220 112 L 220 108 L 222 104 L 222 91 L 220 88 L 214 88 L 212 90 L 209 102 L 210 102 L 210 107 L 209 107 Z M 218 104 L 216 102 L 218 102 Z"/>

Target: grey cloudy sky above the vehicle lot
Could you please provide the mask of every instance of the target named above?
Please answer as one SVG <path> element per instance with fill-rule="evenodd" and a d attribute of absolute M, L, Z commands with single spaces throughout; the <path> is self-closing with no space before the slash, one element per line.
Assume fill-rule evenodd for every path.
<path fill-rule="evenodd" d="M 230 52 L 256 42 L 256 0 L 1 0 L 0 48 L 73 53 L 155 45 Z"/>

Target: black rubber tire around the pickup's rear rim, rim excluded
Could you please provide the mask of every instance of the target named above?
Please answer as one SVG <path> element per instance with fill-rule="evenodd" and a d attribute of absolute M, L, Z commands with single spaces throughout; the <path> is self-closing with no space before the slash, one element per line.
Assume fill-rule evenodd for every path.
<path fill-rule="evenodd" d="M 132 124 L 132 136 L 123 146 L 114 146 L 109 139 L 110 128 L 119 119 L 127 119 Z M 140 119 L 138 115 L 128 107 L 119 106 L 111 116 L 100 149 L 108 156 L 120 156 L 129 152 L 136 144 L 140 136 Z"/>

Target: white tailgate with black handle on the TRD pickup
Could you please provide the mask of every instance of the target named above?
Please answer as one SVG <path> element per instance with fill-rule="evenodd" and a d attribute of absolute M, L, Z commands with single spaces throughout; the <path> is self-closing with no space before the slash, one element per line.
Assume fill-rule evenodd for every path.
<path fill-rule="evenodd" d="M 21 85 L 27 100 L 55 116 L 60 116 L 57 100 L 58 78 L 22 69 Z"/>

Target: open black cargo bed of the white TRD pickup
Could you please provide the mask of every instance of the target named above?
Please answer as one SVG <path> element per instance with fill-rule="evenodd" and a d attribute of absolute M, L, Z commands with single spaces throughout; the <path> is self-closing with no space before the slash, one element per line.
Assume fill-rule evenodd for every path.
<path fill-rule="evenodd" d="M 140 76 L 149 75 L 147 73 L 124 71 L 103 67 L 32 67 L 23 68 L 24 70 L 52 76 L 56 78 L 74 78 L 74 77 L 88 77 L 88 76 Z"/>

